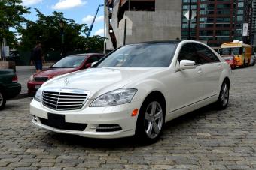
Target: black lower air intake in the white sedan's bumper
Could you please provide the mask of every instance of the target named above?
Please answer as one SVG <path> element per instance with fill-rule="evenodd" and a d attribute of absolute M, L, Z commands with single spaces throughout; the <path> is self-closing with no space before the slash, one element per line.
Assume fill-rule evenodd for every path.
<path fill-rule="evenodd" d="M 41 121 L 41 124 L 47 125 L 49 127 L 54 127 L 56 129 L 59 129 L 59 130 L 79 130 L 79 131 L 83 131 L 87 127 L 87 124 L 77 124 L 77 123 L 65 122 L 64 124 L 59 125 L 59 124 L 50 124 L 49 121 L 47 119 L 44 119 L 44 118 L 39 118 L 39 120 Z"/>

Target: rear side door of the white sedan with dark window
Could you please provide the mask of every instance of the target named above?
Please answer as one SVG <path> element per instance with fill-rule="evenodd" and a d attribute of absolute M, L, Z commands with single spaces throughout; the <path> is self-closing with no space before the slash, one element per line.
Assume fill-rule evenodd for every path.
<path fill-rule="evenodd" d="M 203 82 L 203 99 L 214 97 L 218 94 L 218 84 L 223 70 L 221 61 L 203 44 L 196 44 L 197 56 L 202 69 L 201 82 Z"/>

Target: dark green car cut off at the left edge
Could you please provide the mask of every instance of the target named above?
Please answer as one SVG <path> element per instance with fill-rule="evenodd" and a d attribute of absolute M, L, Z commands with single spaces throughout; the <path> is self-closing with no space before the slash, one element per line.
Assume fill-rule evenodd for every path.
<path fill-rule="evenodd" d="M 4 109 L 6 100 L 20 94 L 21 85 L 14 70 L 0 70 L 0 110 Z"/>

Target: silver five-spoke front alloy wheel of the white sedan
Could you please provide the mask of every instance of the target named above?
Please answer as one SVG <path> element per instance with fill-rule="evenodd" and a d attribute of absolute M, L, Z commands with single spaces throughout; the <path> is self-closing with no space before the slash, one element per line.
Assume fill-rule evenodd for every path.
<path fill-rule="evenodd" d="M 145 133 L 151 139 L 156 138 L 163 127 L 163 109 L 157 101 L 148 104 L 144 119 Z"/>

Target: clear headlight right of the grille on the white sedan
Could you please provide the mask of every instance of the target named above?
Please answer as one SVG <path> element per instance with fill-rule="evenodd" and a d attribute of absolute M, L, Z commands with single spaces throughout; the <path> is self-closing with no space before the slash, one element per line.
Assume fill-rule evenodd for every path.
<path fill-rule="evenodd" d="M 120 88 L 115 91 L 110 91 L 96 98 L 96 100 L 90 104 L 90 107 L 116 106 L 130 103 L 136 92 L 137 89 L 134 88 Z"/>

